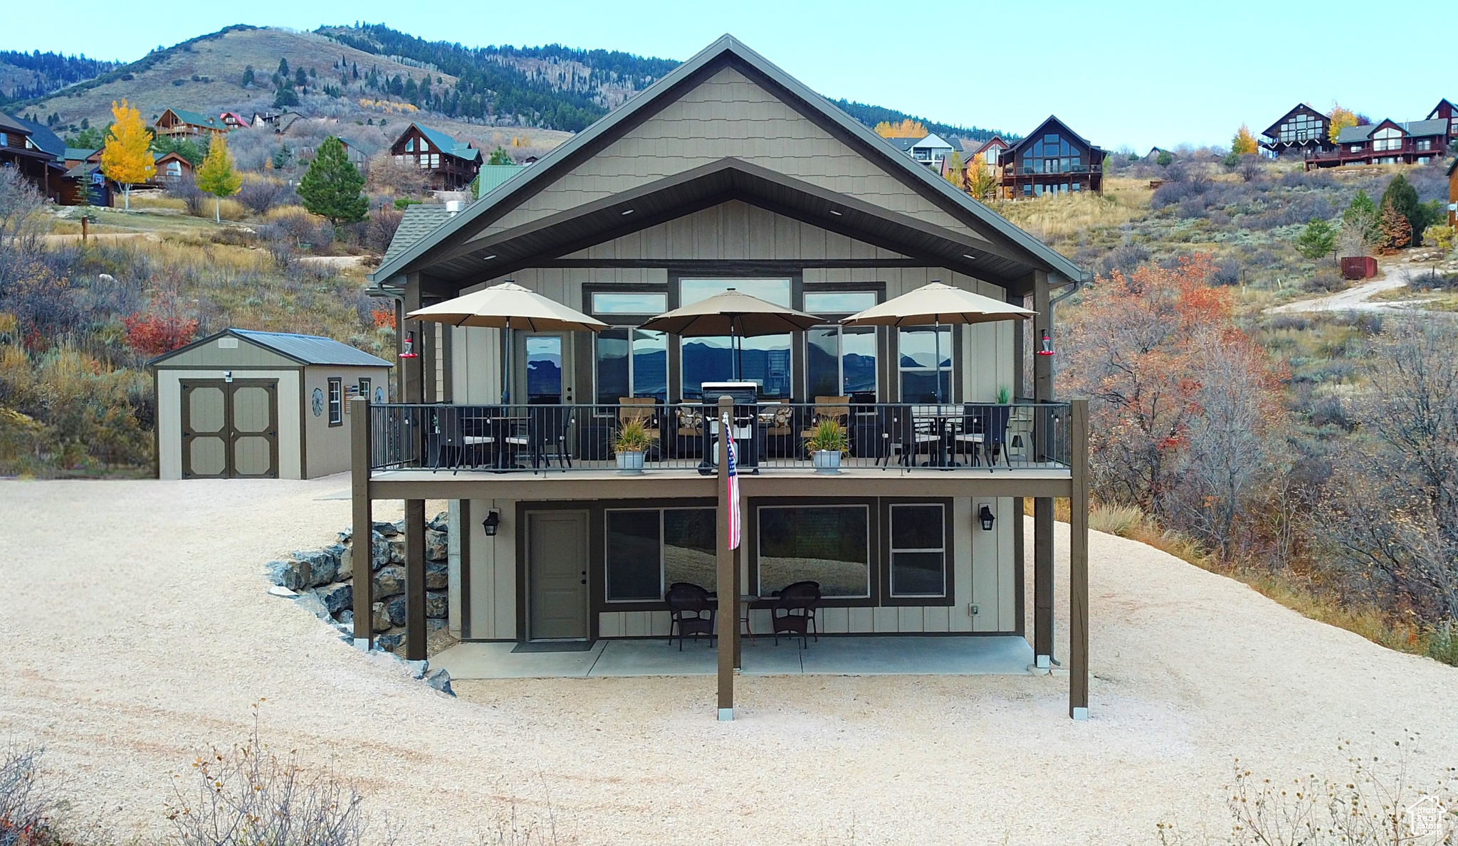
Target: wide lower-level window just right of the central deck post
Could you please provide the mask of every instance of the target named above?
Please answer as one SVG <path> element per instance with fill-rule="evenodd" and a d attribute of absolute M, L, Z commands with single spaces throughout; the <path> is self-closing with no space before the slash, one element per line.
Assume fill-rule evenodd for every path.
<path fill-rule="evenodd" d="M 760 596 L 816 581 L 827 598 L 869 597 L 869 521 L 868 505 L 761 505 Z"/>

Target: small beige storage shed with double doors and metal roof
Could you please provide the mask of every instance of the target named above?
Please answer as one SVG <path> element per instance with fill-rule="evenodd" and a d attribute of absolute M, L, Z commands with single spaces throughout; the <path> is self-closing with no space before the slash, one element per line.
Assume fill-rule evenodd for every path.
<path fill-rule="evenodd" d="M 350 398 L 389 398 L 389 361 L 316 335 L 225 329 L 149 367 L 159 479 L 343 473 Z"/>

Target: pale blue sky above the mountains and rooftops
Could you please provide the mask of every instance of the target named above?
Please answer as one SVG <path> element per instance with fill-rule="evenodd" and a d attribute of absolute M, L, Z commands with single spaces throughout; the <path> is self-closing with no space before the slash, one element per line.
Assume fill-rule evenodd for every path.
<path fill-rule="evenodd" d="M 1028 133 L 1057 114 L 1096 144 L 1228 144 L 1296 102 L 1414 119 L 1458 98 L 1458 3 L 181 3 L 128 20 L 114 1 L 12 15 L 4 50 L 140 58 L 229 23 L 312 29 L 367 20 L 427 39 L 566 44 L 688 58 L 725 32 L 831 98 Z M 917 9 L 932 9 L 919 13 Z M 1391 50 L 1378 60 L 1379 51 Z"/>

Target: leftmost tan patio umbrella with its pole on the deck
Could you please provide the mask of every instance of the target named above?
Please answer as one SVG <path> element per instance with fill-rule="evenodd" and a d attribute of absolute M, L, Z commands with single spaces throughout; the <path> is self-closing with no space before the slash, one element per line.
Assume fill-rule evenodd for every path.
<path fill-rule="evenodd" d="M 487 329 L 526 329 L 528 332 L 601 332 L 608 328 L 582 312 L 506 281 L 405 315 L 413 320 L 432 320 L 452 326 Z M 502 402 L 510 402 L 512 344 L 507 338 L 502 368 Z"/>

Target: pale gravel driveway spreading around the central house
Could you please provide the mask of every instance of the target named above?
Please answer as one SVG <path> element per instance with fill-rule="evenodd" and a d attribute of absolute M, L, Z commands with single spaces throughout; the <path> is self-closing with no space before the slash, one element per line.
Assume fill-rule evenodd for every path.
<path fill-rule="evenodd" d="M 451 699 L 264 593 L 262 562 L 344 526 L 344 488 L 0 483 L 0 738 L 44 743 L 76 813 L 127 836 L 163 830 L 169 775 L 267 697 L 265 738 L 357 778 L 402 845 L 475 843 L 513 811 L 583 843 L 1153 843 L 1161 820 L 1228 830 L 1233 756 L 1344 778 L 1340 738 L 1387 754 L 1420 730 L 1416 775 L 1458 763 L 1458 670 L 1102 534 L 1089 722 L 1032 676 L 742 679 L 732 724 L 712 677 Z"/>

